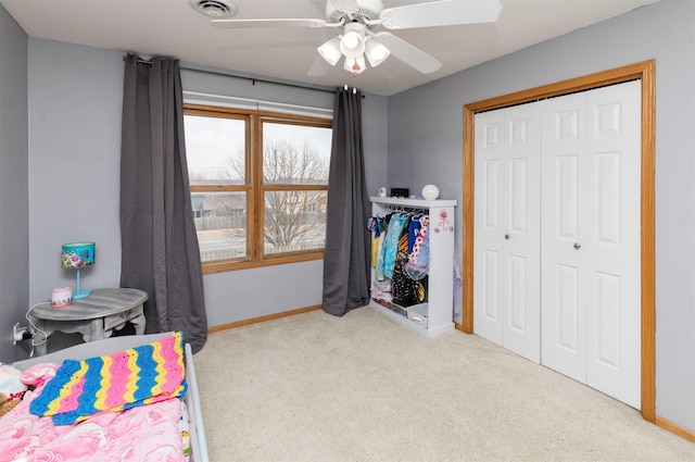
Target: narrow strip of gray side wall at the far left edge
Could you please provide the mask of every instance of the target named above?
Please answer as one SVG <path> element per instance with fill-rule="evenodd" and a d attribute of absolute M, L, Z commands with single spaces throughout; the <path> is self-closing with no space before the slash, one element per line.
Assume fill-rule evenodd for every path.
<path fill-rule="evenodd" d="M 0 362 L 24 358 L 12 326 L 27 325 L 29 239 L 26 34 L 0 5 Z"/>

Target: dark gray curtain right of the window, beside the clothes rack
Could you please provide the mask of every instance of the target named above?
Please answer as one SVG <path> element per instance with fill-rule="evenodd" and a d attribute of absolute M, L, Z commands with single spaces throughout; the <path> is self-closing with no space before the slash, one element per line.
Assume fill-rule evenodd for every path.
<path fill-rule="evenodd" d="M 362 92 L 339 88 L 328 175 L 324 300 L 342 316 L 369 303 L 369 196 L 362 147 Z"/>

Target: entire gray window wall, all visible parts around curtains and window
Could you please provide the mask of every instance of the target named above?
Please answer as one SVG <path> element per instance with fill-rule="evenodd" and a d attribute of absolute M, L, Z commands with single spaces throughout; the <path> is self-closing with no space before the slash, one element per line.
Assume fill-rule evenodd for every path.
<path fill-rule="evenodd" d="M 29 303 L 73 285 L 59 264 L 63 242 L 97 242 L 86 288 L 116 287 L 121 272 L 118 224 L 121 111 L 124 52 L 50 40 L 28 40 Z M 186 64 L 184 64 L 186 65 Z M 185 90 L 332 108 L 333 95 L 182 72 Z M 386 182 L 387 100 L 364 100 L 367 182 Z M 26 273 L 25 273 L 26 274 Z M 323 262 L 204 276 L 208 325 L 301 309 L 321 302 Z"/>

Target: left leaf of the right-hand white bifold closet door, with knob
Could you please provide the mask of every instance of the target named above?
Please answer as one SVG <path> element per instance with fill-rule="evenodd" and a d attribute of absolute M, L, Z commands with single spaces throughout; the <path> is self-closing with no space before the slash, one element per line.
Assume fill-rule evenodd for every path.
<path fill-rule="evenodd" d="M 543 108 L 541 362 L 585 382 L 585 97 L 549 99 Z"/>

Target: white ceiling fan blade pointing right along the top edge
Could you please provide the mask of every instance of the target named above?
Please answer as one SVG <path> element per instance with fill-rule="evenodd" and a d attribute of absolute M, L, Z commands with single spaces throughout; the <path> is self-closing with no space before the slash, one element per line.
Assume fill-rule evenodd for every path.
<path fill-rule="evenodd" d="M 491 23 L 502 11 L 500 0 L 439 0 L 384 9 L 379 22 L 389 29 Z"/>

